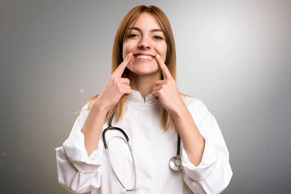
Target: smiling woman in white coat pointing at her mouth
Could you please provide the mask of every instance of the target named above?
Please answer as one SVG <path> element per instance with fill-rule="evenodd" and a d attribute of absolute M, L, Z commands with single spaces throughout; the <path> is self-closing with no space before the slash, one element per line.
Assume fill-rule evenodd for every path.
<path fill-rule="evenodd" d="M 221 193 L 232 177 L 223 135 L 205 104 L 178 92 L 175 80 L 168 18 L 155 6 L 133 8 L 115 36 L 112 75 L 56 149 L 60 184 L 73 193 Z M 102 134 L 110 120 L 130 146 L 118 130 Z"/>

